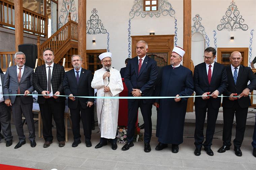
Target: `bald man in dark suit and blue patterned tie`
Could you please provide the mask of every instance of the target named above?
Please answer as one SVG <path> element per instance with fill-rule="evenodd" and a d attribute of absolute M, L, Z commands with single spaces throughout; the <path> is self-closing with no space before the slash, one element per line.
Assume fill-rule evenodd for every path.
<path fill-rule="evenodd" d="M 223 146 L 218 150 L 219 153 L 224 153 L 230 149 L 231 134 L 234 115 L 236 119 L 236 133 L 234 143 L 235 155 L 242 156 L 240 147 L 242 145 L 248 107 L 251 106 L 250 97 L 248 96 L 251 91 L 256 87 L 256 77 L 254 76 L 251 68 L 241 65 L 243 57 L 240 52 L 234 51 L 231 53 L 229 60 L 231 65 L 226 67 L 228 77 L 228 87 L 223 93 L 222 106 L 223 106 Z M 248 84 L 250 81 L 250 84 Z M 238 95 L 239 97 L 235 97 Z"/>

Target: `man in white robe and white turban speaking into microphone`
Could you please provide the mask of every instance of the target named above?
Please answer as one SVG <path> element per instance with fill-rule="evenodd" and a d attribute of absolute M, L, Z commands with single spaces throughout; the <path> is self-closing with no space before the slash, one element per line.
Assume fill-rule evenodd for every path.
<path fill-rule="evenodd" d="M 120 72 L 111 68 L 110 52 L 104 52 L 99 55 L 102 68 L 95 71 L 92 80 L 92 88 L 97 89 L 99 96 L 119 96 L 123 91 L 123 82 Z M 100 142 L 95 148 L 107 145 L 107 139 L 111 140 L 112 149 L 117 149 L 117 121 L 118 121 L 119 99 L 97 98 L 97 116 L 100 128 Z"/>

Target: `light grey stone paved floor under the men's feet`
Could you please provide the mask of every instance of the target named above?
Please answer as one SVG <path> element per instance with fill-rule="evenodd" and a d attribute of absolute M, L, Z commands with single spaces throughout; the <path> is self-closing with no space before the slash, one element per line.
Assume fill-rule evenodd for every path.
<path fill-rule="evenodd" d="M 251 137 L 246 137 L 241 150 L 242 157 L 234 154 L 233 146 L 225 153 L 218 153 L 217 150 L 222 145 L 221 136 L 216 136 L 213 140 L 212 150 L 214 156 L 208 156 L 202 151 L 201 156 L 194 155 L 194 139 L 184 136 L 184 142 L 180 145 L 177 154 L 171 153 L 171 147 L 162 151 L 155 151 L 157 138 L 153 134 L 151 140 L 152 151 L 145 153 L 143 143 L 135 143 L 128 151 L 122 151 L 123 144 L 118 144 L 118 149 L 113 151 L 108 144 L 102 148 L 95 149 L 99 142 L 99 129 L 93 131 L 92 147 L 86 147 L 85 141 L 77 147 L 72 148 L 72 131 L 68 130 L 69 141 L 64 147 L 58 147 L 56 140 L 56 130 L 53 128 L 54 141 L 48 148 L 43 148 L 44 140 L 36 137 L 37 146 L 30 147 L 30 142 L 14 150 L 18 142 L 14 125 L 11 125 L 13 133 L 13 144 L 5 147 L 5 141 L 0 142 L 0 164 L 22 166 L 36 169 L 50 170 L 84 170 L 84 169 L 256 169 L 256 158 L 252 155 Z M 24 125 L 26 136 L 27 127 Z M 37 129 L 37 127 L 36 127 Z M 82 129 L 81 129 L 82 131 Z M 82 132 L 81 132 L 82 134 Z M 36 136 L 38 136 L 36 134 Z M 233 139 L 233 138 L 232 138 Z"/>

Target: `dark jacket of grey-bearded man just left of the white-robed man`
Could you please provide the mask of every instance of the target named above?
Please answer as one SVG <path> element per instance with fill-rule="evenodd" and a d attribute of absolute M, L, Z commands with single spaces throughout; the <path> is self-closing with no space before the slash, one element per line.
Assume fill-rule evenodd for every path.
<path fill-rule="evenodd" d="M 63 80 L 63 88 L 65 95 L 73 94 L 73 96 L 94 96 L 94 89 L 91 87 L 92 82 L 92 72 L 90 70 L 83 69 L 79 77 L 77 84 L 74 69 L 65 73 Z M 83 109 L 87 107 L 87 101 L 94 102 L 94 98 L 81 98 L 76 97 L 74 101 L 68 99 L 68 107 L 71 109 L 76 109 L 78 101 Z"/>

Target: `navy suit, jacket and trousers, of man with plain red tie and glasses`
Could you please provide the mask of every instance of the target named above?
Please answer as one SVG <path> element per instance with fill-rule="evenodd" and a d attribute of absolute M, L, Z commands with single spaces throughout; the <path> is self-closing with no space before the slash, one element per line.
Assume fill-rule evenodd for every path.
<path fill-rule="evenodd" d="M 215 90 L 219 91 L 221 95 L 227 88 L 227 73 L 223 65 L 214 62 L 211 83 L 208 82 L 206 64 L 205 62 L 195 66 L 194 70 L 194 89 L 196 95 L 202 95 L 205 92 L 213 93 Z M 215 123 L 219 113 L 221 98 L 213 98 L 203 100 L 202 97 L 195 98 L 195 114 L 196 114 L 196 128 L 195 128 L 195 146 L 210 148 L 213 141 L 215 131 Z M 206 140 L 203 143 L 203 125 L 207 111 L 207 128 Z"/>

